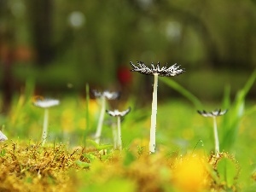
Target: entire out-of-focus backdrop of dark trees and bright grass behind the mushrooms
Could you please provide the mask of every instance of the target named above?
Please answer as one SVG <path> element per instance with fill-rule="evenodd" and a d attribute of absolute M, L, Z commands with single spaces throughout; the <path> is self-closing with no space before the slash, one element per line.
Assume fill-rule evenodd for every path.
<path fill-rule="evenodd" d="M 212 119 L 196 109 L 229 108 L 218 118 L 220 148 L 236 154 L 250 181 L 255 53 L 256 0 L 0 0 L 0 130 L 9 142 L 39 141 L 44 111 L 32 101 L 52 96 L 61 105 L 49 111 L 48 141 L 83 145 L 101 107 L 85 100 L 88 84 L 122 91 L 107 108 L 131 107 L 124 148 L 147 151 L 153 77 L 131 73 L 129 61 L 177 63 L 186 73 L 159 81 L 157 148 L 210 154 Z M 113 142 L 114 122 L 105 115 L 102 143 Z"/>

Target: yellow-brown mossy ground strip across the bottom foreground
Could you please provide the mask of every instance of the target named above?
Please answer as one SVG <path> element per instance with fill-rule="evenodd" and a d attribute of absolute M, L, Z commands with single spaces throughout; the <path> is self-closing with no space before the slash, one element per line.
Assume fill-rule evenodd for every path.
<path fill-rule="evenodd" d="M 208 160 L 196 153 L 149 155 L 141 148 L 102 153 L 94 146 L 9 142 L 0 145 L 0 191 L 236 191 L 237 172 L 223 175 L 225 166 L 237 171 L 232 162 L 223 153 Z"/>

